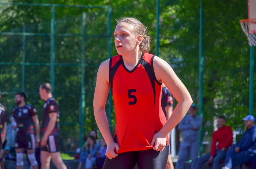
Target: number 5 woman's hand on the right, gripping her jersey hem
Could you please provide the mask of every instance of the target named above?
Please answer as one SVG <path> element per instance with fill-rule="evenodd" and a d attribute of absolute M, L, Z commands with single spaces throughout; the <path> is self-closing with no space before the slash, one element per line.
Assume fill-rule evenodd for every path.
<path fill-rule="evenodd" d="M 153 146 L 153 150 L 163 151 L 166 146 L 166 135 L 163 135 L 160 131 L 157 132 L 152 139 L 151 146 Z"/>

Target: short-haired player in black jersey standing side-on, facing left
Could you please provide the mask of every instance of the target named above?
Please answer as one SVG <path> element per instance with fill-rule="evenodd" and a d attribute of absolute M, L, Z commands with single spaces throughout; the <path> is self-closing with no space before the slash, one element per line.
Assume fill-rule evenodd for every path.
<path fill-rule="evenodd" d="M 45 101 L 42 113 L 41 169 L 50 168 L 50 160 L 58 169 L 67 169 L 60 157 L 59 107 L 52 97 L 52 86 L 44 83 L 39 87 L 39 95 Z"/>

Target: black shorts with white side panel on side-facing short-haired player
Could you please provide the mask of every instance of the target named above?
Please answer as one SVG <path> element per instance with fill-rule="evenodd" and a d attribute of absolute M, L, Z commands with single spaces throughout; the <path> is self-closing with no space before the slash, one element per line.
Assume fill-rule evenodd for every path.
<path fill-rule="evenodd" d="M 60 151 L 60 136 L 49 135 L 46 146 L 41 146 L 41 151 L 48 151 L 49 153 L 55 153 Z"/>

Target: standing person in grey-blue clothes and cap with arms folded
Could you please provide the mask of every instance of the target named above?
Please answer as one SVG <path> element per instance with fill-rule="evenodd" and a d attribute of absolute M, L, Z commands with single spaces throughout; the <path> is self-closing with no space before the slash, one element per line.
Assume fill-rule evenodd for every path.
<path fill-rule="evenodd" d="M 182 131 L 182 142 L 178 153 L 178 161 L 175 169 L 184 169 L 188 154 L 195 162 L 199 148 L 199 129 L 202 124 L 202 118 L 196 115 L 196 105 L 192 104 L 188 110 L 188 115 L 185 115 L 178 124 L 178 129 Z"/>

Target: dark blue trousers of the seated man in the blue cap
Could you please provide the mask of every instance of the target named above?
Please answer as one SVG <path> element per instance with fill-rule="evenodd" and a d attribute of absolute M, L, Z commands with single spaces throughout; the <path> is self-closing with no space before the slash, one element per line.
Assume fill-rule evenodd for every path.
<path fill-rule="evenodd" d="M 225 158 L 225 166 L 229 168 L 234 168 L 235 166 L 252 161 L 253 156 L 248 155 L 246 151 L 247 150 L 239 151 L 238 153 L 236 153 L 234 149 L 227 150 L 227 154 Z"/>

